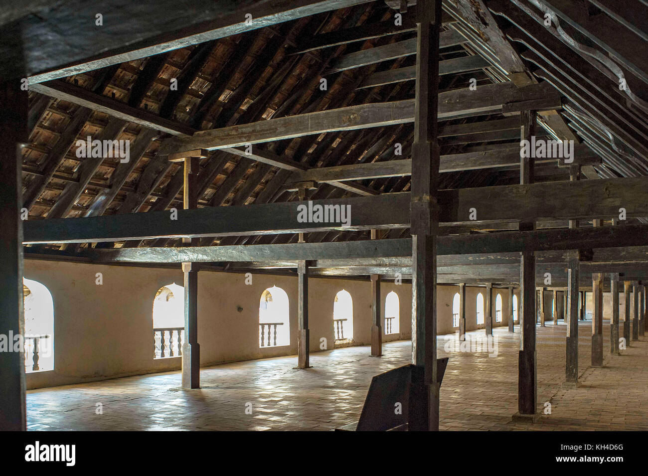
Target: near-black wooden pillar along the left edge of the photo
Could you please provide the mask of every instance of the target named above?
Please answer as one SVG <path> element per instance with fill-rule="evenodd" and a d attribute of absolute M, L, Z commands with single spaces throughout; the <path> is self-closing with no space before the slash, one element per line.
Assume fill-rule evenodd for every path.
<path fill-rule="evenodd" d="M 17 41 L 21 38 L 16 25 Z M 7 45 L 9 46 L 9 45 Z M 21 51 L 19 45 L 16 51 Z M 23 305 L 23 222 L 21 167 L 22 144 L 28 141 L 28 91 L 20 88 L 26 77 L 21 64 L 3 65 L 0 78 L 0 334 L 7 335 L 7 345 L 14 347 L 10 335 L 24 334 Z M 0 352 L 0 430 L 23 431 L 25 419 L 25 354 Z"/>

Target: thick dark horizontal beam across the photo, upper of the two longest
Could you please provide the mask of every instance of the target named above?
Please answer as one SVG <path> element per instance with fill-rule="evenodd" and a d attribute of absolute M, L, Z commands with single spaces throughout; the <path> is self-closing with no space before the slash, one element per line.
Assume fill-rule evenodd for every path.
<path fill-rule="evenodd" d="M 520 218 L 584 220 L 618 216 L 621 205 L 625 207 L 629 217 L 644 216 L 647 195 L 648 177 L 554 182 L 551 186 L 538 183 L 440 190 L 439 203 L 443 204 L 443 207 L 439 219 L 450 223 L 520 220 Z M 597 200 L 596 197 L 600 196 L 605 196 L 606 199 Z M 409 193 L 399 193 L 309 202 L 321 207 L 325 205 L 351 207 L 352 213 L 348 226 L 343 225 L 341 221 L 335 223 L 298 221 L 297 204 L 290 202 L 179 210 L 178 220 L 167 220 L 166 212 L 69 220 L 32 220 L 25 223 L 24 242 L 100 242 L 178 236 L 227 236 L 237 233 L 244 235 L 310 232 L 342 228 L 347 230 L 404 228 L 410 224 L 410 200 Z M 472 208 L 476 209 L 477 220 L 470 220 Z M 610 227 L 610 229 L 615 228 Z M 605 230 L 605 227 L 602 229 Z M 607 233 L 607 231 L 603 232 L 603 234 Z"/>

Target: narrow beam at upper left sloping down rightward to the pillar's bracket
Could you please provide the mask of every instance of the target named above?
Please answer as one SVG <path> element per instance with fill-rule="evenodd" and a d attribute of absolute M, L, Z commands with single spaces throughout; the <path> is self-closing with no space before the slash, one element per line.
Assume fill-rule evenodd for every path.
<path fill-rule="evenodd" d="M 179 122 L 164 119 L 145 109 L 133 108 L 125 102 L 98 95 L 84 87 L 63 80 L 30 85 L 30 90 L 178 137 L 191 137 L 195 131 Z"/>

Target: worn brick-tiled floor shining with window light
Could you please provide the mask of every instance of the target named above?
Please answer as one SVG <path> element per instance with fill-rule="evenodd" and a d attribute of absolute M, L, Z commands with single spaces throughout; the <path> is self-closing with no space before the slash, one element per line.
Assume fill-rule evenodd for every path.
<path fill-rule="evenodd" d="M 496 357 L 456 352 L 454 344 L 445 349 L 446 339 L 455 337 L 439 336 L 439 357 L 450 357 L 441 386 L 441 429 L 648 429 L 648 405 L 642 403 L 648 337 L 613 357 L 605 326 L 605 367 L 590 368 L 591 323 L 581 323 L 581 386 L 570 389 L 561 387 L 564 324 L 537 330 L 536 424 L 511 423 L 517 410 L 517 326 L 513 335 L 495 328 Z M 308 370 L 293 368 L 296 357 L 203 368 L 200 390 L 178 389 L 179 372 L 39 389 L 27 394 L 27 420 L 32 430 L 330 430 L 358 420 L 372 376 L 410 357 L 411 343 L 400 341 L 385 345 L 380 358 L 369 357 L 366 346 L 317 352 Z M 551 414 L 544 414 L 545 402 Z M 97 403 L 102 414 L 95 411 Z"/>

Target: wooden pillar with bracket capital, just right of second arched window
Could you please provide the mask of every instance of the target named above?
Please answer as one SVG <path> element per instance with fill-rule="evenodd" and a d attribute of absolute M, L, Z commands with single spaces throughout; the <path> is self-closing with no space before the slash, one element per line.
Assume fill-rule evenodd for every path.
<path fill-rule="evenodd" d="M 183 207 L 198 205 L 198 172 L 205 150 L 192 150 L 169 155 L 172 162 L 184 163 Z M 182 238 L 184 246 L 198 245 L 198 238 Z M 198 344 L 198 263 L 182 264 L 185 285 L 185 341 L 182 344 L 182 388 L 200 389 L 200 344 Z"/>

